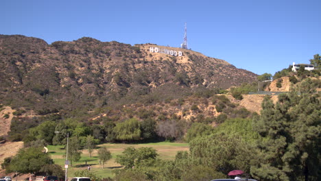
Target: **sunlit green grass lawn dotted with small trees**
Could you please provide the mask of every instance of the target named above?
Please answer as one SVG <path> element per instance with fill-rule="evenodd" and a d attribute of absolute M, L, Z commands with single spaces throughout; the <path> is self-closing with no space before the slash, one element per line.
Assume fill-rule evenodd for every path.
<path fill-rule="evenodd" d="M 62 145 L 49 145 L 47 146 L 49 149 L 49 154 L 53 161 L 61 165 L 64 168 L 64 160 L 66 150 Z M 74 176 L 75 171 L 87 169 L 88 165 L 91 165 L 91 171 L 95 172 L 97 176 L 102 178 L 113 178 L 112 170 L 121 169 L 121 165 L 115 162 L 115 158 L 117 155 L 121 154 L 126 147 L 153 147 L 156 149 L 159 154 L 158 158 L 163 160 L 174 160 L 176 153 L 178 151 L 187 151 L 189 150 L 188 143 L 169 143 L 169 142 L 160 142 L 160 143 L 144 143 L 144 144 L 121 144 L 121 143 L 106 143 L 102 145 L 97 145 L 99 147 L 106 147 L 112 154 L 112 159 L 108 160 L 105 163 L 104 169 L 102 169 L 102 165 L 99 165 L 99 159 L 97 157 L 97 149 L 95 149 L 92 153 L 92 156 L 89 156 L 88 150 L 82 150 L 82 158 L 78 162 L 73 162 L 73 167 L 69 165 L 68 169 L 68 178 L 72 178 Z"/>

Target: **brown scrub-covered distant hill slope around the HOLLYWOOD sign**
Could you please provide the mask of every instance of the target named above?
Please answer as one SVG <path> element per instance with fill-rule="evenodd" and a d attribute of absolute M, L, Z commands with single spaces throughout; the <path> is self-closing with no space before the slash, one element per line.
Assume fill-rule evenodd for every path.
<path fill-rule="evenodd" d="M 152 53 L 150 47 L 181 51 Z M 128 97 L 228 88 L 256 80 L 250 71 L 187 49 L 100 42 L 54 42 L 0 35 L 0 100 L 38 114 L 92 110 Z M 173 97 L 174 98 L 174 97 Z"/>

